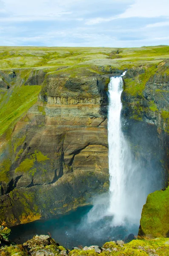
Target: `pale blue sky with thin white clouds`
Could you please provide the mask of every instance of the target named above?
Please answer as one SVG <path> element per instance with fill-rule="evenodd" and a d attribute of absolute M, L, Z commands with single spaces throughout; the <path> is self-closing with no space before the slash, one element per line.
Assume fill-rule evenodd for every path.
<path fill-rule="evenodd" d="M 169 45 L 169 0 L 0 0 L 1 46 Z"/>

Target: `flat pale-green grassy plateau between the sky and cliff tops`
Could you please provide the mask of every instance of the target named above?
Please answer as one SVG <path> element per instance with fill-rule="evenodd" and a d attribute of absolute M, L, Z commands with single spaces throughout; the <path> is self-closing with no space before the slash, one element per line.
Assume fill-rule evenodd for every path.
<path fill-rule="evenodd" d="M 115 68 L 159 63 L 169 58 L 169 46 L 140 48 L 95 47 L 0 47 L 0 69 L 42 67 L 55 70 L 81 65 L 111 65 Z"/>

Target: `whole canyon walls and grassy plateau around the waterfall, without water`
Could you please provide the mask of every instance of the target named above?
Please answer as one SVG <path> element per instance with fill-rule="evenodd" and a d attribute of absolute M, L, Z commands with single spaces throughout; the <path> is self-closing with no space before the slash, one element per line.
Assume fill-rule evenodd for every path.
<path fill-rule="evenodd" d="M 51 218 L 92 205 L 109 190 L 108 84 L 126 70 L 123 134 L 158 188 L 143 206 L 139 236 L 168 236 L 169 47 L 4 48 L 1 222 Z"/>

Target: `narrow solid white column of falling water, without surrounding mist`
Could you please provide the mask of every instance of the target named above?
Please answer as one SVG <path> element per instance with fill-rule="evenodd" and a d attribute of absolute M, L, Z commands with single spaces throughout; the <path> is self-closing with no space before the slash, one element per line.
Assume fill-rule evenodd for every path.
<path fill-rule="evenodd" d="M 123 75 L 122 75 L 123 76 Z M 120 113 L 123 79 L 111 77 L 109 83 L 108 142 L 109 142 L 109 213 L 114 215 L 114 223 L 121 224 L 126 215 L 126 173 L 124 157 L 127 152 L 121 131 Z"/>

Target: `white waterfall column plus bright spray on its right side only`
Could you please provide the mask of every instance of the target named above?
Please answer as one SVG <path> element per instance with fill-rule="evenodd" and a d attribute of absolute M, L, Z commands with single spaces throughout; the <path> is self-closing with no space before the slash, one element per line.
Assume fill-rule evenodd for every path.
<path fill-rule="evenodd" d="M 122 76 L 125 73 L 122 74 Z M 141 209 L 139 193 L 136 186 L 140 184 L 140 176 L 132 163 L 130 147 L 121 131 L 120 113 L 122 108 L 121 93 L 123 91 L 122 76 L 111 77 L 109 83 L 109 207 L 108 214 L 113 215 L 113 224 L 121 225 L 126 221 L 139 221 Z M 135 186 L 135 182 L 137 185 Z M 141 187 L 141 184 L 140 184 Z M 145 198 L 143 198 L 144 201 Z M 138 203 L 139 201 L 139 203 Z M 141 203 L 141 204 L 140 204 Z"/>

